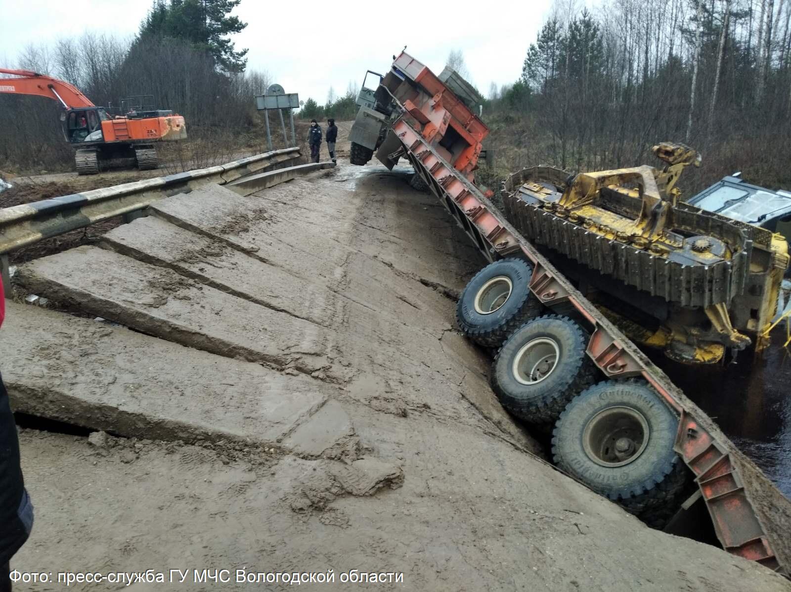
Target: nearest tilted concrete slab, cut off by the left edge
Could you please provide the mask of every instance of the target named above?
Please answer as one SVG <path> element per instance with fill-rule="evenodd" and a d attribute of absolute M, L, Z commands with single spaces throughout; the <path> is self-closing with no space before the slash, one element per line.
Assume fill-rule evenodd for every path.
<path fill-rule="evenodd" d="M 298 431 L 301 441 L 330 448 L 353 433 L 343 408 L 327 403 L 337 393 L 332 385 L 127 328 L 10 301 L 7 306 L 0 359 L 17 411 L 119 435 L 187 442 L 275 445 Z M 332 417 L 320 417 L 335 425 L 313 422 L 327 404 Z"/>

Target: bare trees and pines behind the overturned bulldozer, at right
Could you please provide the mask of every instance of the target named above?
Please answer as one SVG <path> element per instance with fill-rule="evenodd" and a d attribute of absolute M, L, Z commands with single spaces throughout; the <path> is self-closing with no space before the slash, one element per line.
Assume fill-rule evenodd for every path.
<path fill-rule="evenodd" d="M 670 140 L 702 152 L 698 187 L 744 170 L 791 188 L 789 22 L 791 0 L 558 2 L 518 81 L 490 87 L 501 164 L 654 164 Z"/>

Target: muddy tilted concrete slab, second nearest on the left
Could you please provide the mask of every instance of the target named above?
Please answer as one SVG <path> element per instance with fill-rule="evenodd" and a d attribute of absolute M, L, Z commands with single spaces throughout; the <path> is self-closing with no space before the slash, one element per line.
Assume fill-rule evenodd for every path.
<path fill-rule="evenodd" d="M 97 247 L 34 260 L 17 281 L 55 302 L 228 358 L 308 374 L 329 366 L 325 328 Z"/>

